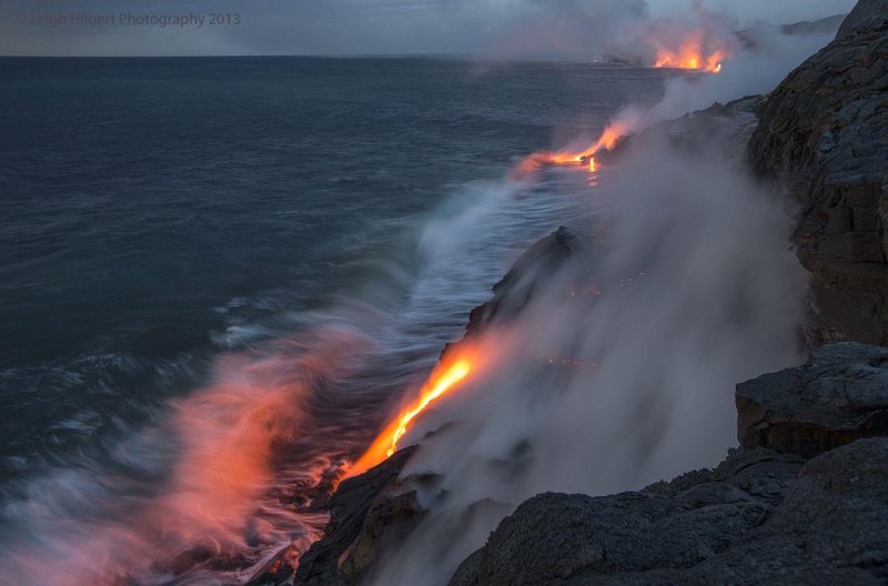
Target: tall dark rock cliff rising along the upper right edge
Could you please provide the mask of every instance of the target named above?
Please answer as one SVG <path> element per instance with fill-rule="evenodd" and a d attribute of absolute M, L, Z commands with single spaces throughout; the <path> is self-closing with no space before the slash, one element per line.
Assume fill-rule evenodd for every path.
<path fill-rule="evenodd" d="M 888 344 L 888 1 L 862 1 L 839 38 L 759 109 L 755 170 L 786 184 L 813 273 L 811 347 Z"/>

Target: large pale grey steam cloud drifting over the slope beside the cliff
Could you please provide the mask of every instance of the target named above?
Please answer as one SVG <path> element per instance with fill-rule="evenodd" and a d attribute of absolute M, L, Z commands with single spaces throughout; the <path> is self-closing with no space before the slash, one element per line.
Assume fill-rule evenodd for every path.
<path fill-rule="evenodd" d="M 770 90 L 828 41 L 749 36 L 755 49 L 723 74 L 676 78 L 653 109 L 618 121 L 640 130 Z M 780 203 L 736 161 L 676 151 L 656 128 L 643 137 L 588 193 L 592 220 L 574 226 L 594 234 L 591 259 L 490 332 L 481 346 L 496 366 L 405 437 L 422 449 L 404 475 L 438 479 L 421 494 L 431 514 L 373 584 L 445 584 L 541 492 L 609 494 L 715 464 L 736 444 L 735 384 L 799 360 L 805 277 Z M 710 146 L 700 151 L 724 152 Z"/>

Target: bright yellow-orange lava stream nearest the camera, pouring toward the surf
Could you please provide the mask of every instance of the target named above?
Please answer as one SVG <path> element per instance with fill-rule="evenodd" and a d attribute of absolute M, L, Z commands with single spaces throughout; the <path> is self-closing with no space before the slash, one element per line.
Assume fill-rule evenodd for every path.
<path fill-rule="evenodd" d="M 432 376 L 423 385 L 420 397 L 389 424 L 376 441 L 373 442 L 373 445 L 370 446 L 370 449 L 354 463 L 349 471 L 349 476 L 366 472 L 394 454 L 397 449 L 397 443 L 407 433 L 411 422 L 434 401 L 453 390 L 471 372 L 472 362 L 464 356 L 435 368 Z"/>

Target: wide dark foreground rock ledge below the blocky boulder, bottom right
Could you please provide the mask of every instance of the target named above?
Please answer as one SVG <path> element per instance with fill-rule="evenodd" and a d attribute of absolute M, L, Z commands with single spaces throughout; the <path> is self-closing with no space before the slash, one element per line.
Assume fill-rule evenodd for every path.
<path fill-rule="evenodd" d="M 544 494 L 503 521 L 450 584 L 885 584 L 887 479 L 880 437 L 804 467 L 774 452 L 739 451 L 673 497 Z"/>

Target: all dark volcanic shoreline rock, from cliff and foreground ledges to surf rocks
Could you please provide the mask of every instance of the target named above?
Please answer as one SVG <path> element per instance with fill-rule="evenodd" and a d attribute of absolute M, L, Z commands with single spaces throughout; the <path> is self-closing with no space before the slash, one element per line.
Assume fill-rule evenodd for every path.
<path fill-rule="evenodd" d="M 452 586 L 888 583 L 888 347 L 868 345 L 888 344 L 888 1 L 862 0 L 770 95 L 667 125 L 690 149 L 718 129 L 796 211 L 809 361 L 737 385 L 738 447 L 714 469 L 613 496 L 535 496 Z M 516 315 L 588 245 L 565 228 L 539 241 L 473 310 L 466 336 Z M 401 477 L 415 451 L 344 481 L 299 568 L 282 553 L 250 584 L 372 575 L 426 514 L 416 488 L 430 478 Z"/>

